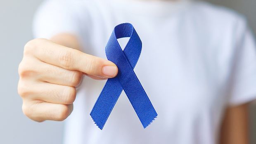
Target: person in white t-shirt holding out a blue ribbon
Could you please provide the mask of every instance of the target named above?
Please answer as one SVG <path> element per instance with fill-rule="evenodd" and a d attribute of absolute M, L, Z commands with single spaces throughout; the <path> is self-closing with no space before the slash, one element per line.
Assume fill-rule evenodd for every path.
<path fill-rule="evenodd" d="M 144 129 L 122 92 L 100 130 L 90 111 L 118 73 L 104 47 L 125 22 L 142 40 L 134 71 L 158 117 Z M 45 0 L 33 32 L 19 65 L 22 110 L 38 122 L 70 115 L 64 144 L 249 143 L 256 45 L 242 15 L 192 0 Z"/>

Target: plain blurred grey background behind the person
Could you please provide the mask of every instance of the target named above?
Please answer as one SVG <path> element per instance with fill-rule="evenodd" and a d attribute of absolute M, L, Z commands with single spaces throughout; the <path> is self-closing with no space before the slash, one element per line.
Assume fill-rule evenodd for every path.
<path fill-rule="evenodd" d="M 23 46 L 33 38 L 33 13 L 43 0 L 0 0 L 0 144 L 61 144 L 64 122 L 36 123 L 21 110 L 17 94 Z M 256 33 L 256 0 L 206 0 L 244 14 Z M 256 144 L 256 104 L 250 106 L 250 139 Z M 31 137 L 33 136 L 33 137 Z"/>

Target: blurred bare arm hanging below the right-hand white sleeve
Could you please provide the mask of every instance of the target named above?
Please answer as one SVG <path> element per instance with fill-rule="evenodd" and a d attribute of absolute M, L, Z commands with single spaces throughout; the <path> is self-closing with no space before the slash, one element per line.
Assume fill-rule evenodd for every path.
<path fill-rule="evenodd" d="M 220 144 L 249 144 L 248 105 L 228 107 L 220 129 Z"/>

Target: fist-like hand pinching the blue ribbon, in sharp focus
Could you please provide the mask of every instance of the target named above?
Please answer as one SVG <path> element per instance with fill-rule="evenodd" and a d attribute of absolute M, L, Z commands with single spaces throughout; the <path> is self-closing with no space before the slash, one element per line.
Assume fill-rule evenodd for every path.
<path fill-rule="evenodd" d="M 75 87 L 83 74 L 106 79 L 115 77 L 117 71 L 111 61 L 50 40 L 31 40 L 19 64 L 18 93 L 23 99 L 23 113 L 38 122 L 62 121 L 73 110 Z"/>

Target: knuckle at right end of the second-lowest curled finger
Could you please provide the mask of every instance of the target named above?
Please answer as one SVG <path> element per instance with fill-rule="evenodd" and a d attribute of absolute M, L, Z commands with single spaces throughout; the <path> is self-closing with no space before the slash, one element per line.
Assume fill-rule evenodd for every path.
<path fill-rule="evenodd" d="M 69 87 L 63 91 L 63 98 L 65 104 L 72 104 L 76 99 L 76 88 Z"/>

